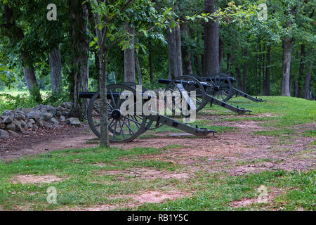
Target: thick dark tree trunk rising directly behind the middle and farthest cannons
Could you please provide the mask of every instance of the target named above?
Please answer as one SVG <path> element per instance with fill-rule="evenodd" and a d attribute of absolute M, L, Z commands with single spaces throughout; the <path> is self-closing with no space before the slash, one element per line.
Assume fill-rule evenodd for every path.
<path fill-rule="evenodd" d="M 205 0 L 205 12 L 214 13 L 216 11 L 214 0 Z M 204 24 L 204 62 L 203 62 L 203 76 L 207 77 L 213 73 L 219 72 L 219 22 L 218 20 Z"/>

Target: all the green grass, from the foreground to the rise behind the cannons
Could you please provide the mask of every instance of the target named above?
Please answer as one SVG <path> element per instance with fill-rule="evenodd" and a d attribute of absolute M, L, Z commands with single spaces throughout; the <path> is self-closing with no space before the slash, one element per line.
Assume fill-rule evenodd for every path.
<path fill-rule="evenodd" d="M 263 97 L 264 103 L 254 103 L 244 98 L 234 98 L 232 105 L 253 110 L 254 117 L 244 117 L 235 113 L 225 113 L 225 109 L 212 107 L 202 110 L 200 115 L 209 115 L 190 124 L 195 127 L 215 129 L 219 132 L 242 132 L 242 129 L 228 126 L 213 126 L 213 121 L 242 121 L 253 120 L 263 122 L 264 130 L 254 131 L 258 136 L 280 136 L 280 141 L 289 142 L 289 136 L 302 138 L 314 137 L 315 129 L 302 130 L 299 124 L 315 122 L 316 105 L 314 101 L 289 97 Z M 263 117 L 263 113 L 270 113 L 271 117 Z M 219 118 L 218 118 L 219 116 Z M 180 119 L 177 119 L 180 120 Z M 299 130 L 299 132 L 298 132 Z M 155 137 L 155 134 L 165 132 L 181 132 L 178 129 L 163 126 L 147 131 L 139 138 Z M 232 134 L 233 135 L 233 134 Z M 279 141 L 278 141 L 279 140 Z M 91 143 L 94 143 L 91 140 Z M 255 143 L 254 143 L 255 144 Z M 315 146 L 315 141 L 310 142 Z M 255 145 L 256 146 L 256 145 Z M 141 179 L 137 176 L 102 175 L 109 170 L 126 170 L 147 168 L 164 172 L 183 172 L 190 170 L 187 165 L 159 160 L 160 154 L 166 150 L 184 148 L 170 145 L 164 148 L 85 148 L 72 150 L 58 150 L 41 155 L 32 155 L 8 162 L 0 162 L 0 209 L 14 210 L 15 207 L 27 210 L 58 210 L 66 207 L 91 207 L 104 204 L 128 203 L 128 199 L 121 195 L 144 193 L 147 191 L 174 191 L 192 193 L 191 196 L 168 200 L 164 203 L 147 203 L 136 210 L 315 210 L 315 169 L 306 172 L 269 171 L 243 176 L 230 176 L 225 172 L 207 173 L 192 172 L 188 179 Z M 283 148 L 282 148 L 283 149 Z M 312 150 L 310 150 L 312 151 Z M 145 156 L 150 156 L 145 158 Z M 208 158 L 198 158 L 208 162 Z M 221 159 L 218 159 L 220 162 Z M 203 162 L 204 162 L 203 161 Z M 239 162 L 238 165 L 258 164 L 273 161 L 265 158 Z M 202 162 L 201 162 L 202 163 Z M 224 167 L 225 165 L 223 165 Z M 232 166 L 232 165 L 227 165 Z M 11 179 L 17 174 L 44 175 L 53 174 L 64 178 L 51 184 L 12 184 Z M 123 180 L 122 180 L 123 179 Z M 279 190 L 272 203 L 257 203 L 257 189 L 264 185 L 272 194 Z M 46 201 L 46 190 L 55 186 L 58 191 L 58 204 L 49 205 Z M 243 199 L 253 199 L 254 203 L 240 208 L 233 208 L 230 204 Z M 130 208 L 121 208 L 131 210 Z"/>

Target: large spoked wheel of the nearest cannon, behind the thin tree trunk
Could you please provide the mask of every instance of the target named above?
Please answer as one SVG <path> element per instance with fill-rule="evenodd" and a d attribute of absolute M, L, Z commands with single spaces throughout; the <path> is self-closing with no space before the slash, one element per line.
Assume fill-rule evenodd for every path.
<path fill-rule="evenodd" d="M 107 86 L 107 128 L 109 130 L 110 142 L 129 142 L 136 139 L 137 136 L 145 132 L 145 125 L 147 124 L 147 117 L 144 115 L 137 115 L 136 112 L 131 115 L 123 115 L 121 113 L 121 104 L 125 101 L 119 96 L 124 94 L 126 99 L 133 94 L 137 99 L 141 99 L 143 105 L 143 98 L 136 93 L 135 89 L 123 84 L 112 84 Z M 135 103 L 136 104 L 136 103 Z M 136 110 L 136 107 L 134 107 Z M 100 91 L 96 92 L 88 104 L 88 124 L 96 136 L 100 138 Z"/>

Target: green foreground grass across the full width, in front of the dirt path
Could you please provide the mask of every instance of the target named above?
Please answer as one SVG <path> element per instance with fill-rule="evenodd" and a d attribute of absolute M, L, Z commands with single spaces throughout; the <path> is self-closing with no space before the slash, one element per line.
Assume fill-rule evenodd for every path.
<path fill-rule="evenodd" d="M 315 170 L 309 172 L 261 172 L 245 176 L 195 172 L 187 180 L 139 179 L 125 176 L 122 182 L 116 175 L 100 176 L 107 170 L 139 167 L 175 171 L 174 163 L 159 160 L 140 160 L 140 155 L 160 154 L 163 150 L 179 148 L 86 148 L 53 151 L 0 164 L 0 207 L 12 210 L 16 205 L 28 210 L 54 210 L 65 207 L 88 207 L 100 204 L 126 203 L 120 195 L 144 191 L 173 191 L 175 188 L 192 193 L 192 196 L 169 200 L 165 203 L 147 203 L 138 210 L 234 210 L 230 203 L 254 198 L 254 204 L 244 210 L 261 210 L 264 207 L 281 207 L 280 210 L 315 210 Z M 120 160 L 127 158 L 129 160 Z M 76 161 L 77 160 L 77 161 Z M 269 161 L 265 159 L 263 161 Z M 77 162 L 77 163 L 75 163 Z M 65 178 L 51 184 L 12 184 L 15 174 L 55 174 Z M 127 182 L 126 182 L 127 181 Z M 264 185 L 269 190 L 282 190 L 268 204 L 256 203 L 257 189 Z M 58 191 L 58 204 L 46 202 L 46 190 L 54 186 Z M 268 193 L 272 194 L 272 193 Z M 114 197 L 113 197 L 114 196 Z M 116 196 L 116 197 L 115 197 Z M 313 206 L 314 205 L 314 206 Z M 237 209 L 237 210 L 241 210 Z"/>

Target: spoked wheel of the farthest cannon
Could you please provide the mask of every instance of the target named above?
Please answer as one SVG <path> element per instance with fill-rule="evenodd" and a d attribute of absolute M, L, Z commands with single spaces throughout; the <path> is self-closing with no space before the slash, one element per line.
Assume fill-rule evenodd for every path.
<path fill-rule="evenodd" d="M 230 100 L 234 95 L 234 91 L 229 77 L 225 73 L 217 73 L 212 75 L 212 77 L 206 78 L 205 81 L 210 85 L 206 92 L 220 101 Z"/>

